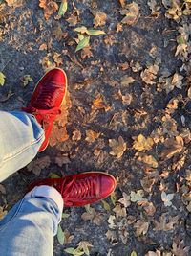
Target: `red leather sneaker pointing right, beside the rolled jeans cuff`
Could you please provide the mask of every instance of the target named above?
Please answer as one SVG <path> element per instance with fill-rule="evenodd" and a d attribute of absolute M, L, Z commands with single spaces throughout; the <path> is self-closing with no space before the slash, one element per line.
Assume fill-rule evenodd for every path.
<path fill-rule="evenodd" d="M 53 186 L 62 195 L 65 207 L 77 207 L 107 198 L 116 189 L 117 181 L 112 175 L 90 172 L 36 181 L 29 189 L 40 185 Z"/>

